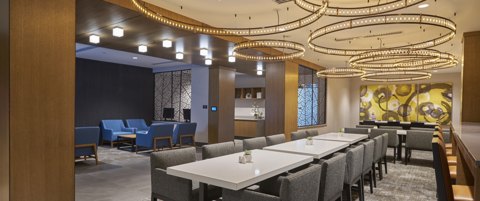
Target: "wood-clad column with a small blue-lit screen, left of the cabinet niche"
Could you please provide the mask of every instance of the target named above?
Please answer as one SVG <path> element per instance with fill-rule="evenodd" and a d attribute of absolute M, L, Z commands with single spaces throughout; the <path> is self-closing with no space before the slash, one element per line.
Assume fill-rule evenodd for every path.
<path fill-rule="evenodd" d="M 212 111 L 217 107 L 217 111 Z M 233 142 L 235 69 L 210 67 L 208 75 L 208 144 Z"/>

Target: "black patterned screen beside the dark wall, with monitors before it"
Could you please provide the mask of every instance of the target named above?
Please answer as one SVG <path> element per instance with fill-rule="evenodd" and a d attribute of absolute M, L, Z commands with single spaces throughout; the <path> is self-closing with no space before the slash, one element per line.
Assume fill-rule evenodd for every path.
<path fill-rule="evenodd" d="M 192 70 L 155 73 L 155 120 L 190 122 Z"/>

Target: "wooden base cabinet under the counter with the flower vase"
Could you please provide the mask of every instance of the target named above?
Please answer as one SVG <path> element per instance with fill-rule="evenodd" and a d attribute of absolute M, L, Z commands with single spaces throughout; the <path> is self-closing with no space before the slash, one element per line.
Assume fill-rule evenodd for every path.
<path fill-rule="evenodd" d="M 265 136 L 264 120 L 235 120 L 235 136 L 262 137 Z"/>

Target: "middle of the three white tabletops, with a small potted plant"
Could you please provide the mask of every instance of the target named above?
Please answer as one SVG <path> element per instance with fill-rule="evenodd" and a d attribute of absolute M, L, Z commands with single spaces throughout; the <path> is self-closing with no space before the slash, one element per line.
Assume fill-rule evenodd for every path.
<path fill-rule="evenodd" d="M 326 140 L 314 140 L 313 145 L 305 145 L 306 140 L 307 139 L 300 139 L 278 145 L 267 146 L 264 147 L 264 150 L 321 158 L 348 147 L 349 145 L 348 142 L 332 142 Z"/>

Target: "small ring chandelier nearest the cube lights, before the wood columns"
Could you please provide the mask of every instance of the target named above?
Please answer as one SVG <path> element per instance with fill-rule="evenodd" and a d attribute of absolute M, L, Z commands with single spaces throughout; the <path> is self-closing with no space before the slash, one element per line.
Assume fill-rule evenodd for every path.
<path fill-rule="evenodd" d="M 284 53 L 283 55 L 252 55 L 240 52 L 243 49 L 252 49 L 259 47 L 276 47 L 294 50 L 293 53 Z M 250 61 L 285 61 L 300 58 L 305 54 L 305 46 L 300 43 L 283 40 L 252 40 L 244 41 L 233 45 L 232 55 Z"/>

